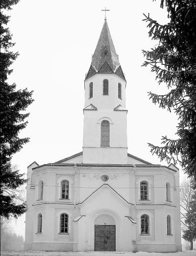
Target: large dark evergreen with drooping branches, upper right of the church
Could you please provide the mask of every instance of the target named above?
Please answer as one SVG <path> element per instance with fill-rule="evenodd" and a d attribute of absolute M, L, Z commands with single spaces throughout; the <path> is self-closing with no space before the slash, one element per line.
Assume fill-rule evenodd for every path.
<path fill-rule="evenodd" d="M 156 73 L 158 83 L 165 83 L 168 93 L 149 98 L 160 108 L 178 116 L 177 140 L 162 137 L 162 146 L 148 143 L 152 154 L 168 163 L 180 163 L 196 187 L 196 0 L 161 0 L 170 22 L 160 25 L 145 15 L 149 37 L 158 40 L 150 51 L 143 50 L 144 66 Z M 157 43 L 157 42 L 156 42 Z"/>

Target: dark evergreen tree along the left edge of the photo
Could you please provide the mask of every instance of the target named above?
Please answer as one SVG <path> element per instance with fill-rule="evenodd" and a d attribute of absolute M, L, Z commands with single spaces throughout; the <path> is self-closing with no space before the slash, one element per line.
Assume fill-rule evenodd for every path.
<path fill-rule="evenodd" d="M 25 128 L 25 118 L 29 114 L 23 113 L 32 103 L 32 91 L 27 89 L 16 90 L 16 84 L 9 85 L 8 75 L 12 69 L 10 65 L 18 57 L 10 48 L 14 46 L 11 42 L 7 23 L 9 16 L 3 12 L 11 10 L 11 6 L 19 0 L 0 1 L 0 215 L 6 218 L 13 215 L 17 217 L 26 211 L 26 203 L 20 201 L 17 188 L 26 183 L 23 174 L 11 167 L 11 157 L 18 152 L 29 138 L 19 138 L 19 132 Z"/>

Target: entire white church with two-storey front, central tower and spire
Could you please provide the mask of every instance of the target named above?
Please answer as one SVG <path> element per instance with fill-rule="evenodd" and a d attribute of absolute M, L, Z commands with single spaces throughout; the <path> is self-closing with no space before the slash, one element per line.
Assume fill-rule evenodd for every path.
<path fill-rule="evenodd" d="M 25 250 L 181 251 L 179 170 L 127 153 L 125 88 L 105 19 L 85 78 L 83 151 L 28 166 Z"/>

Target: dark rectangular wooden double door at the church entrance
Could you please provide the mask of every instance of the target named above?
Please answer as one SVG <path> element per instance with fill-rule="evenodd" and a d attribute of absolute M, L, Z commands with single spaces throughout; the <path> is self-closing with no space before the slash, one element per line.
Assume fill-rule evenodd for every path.
<path fill-rule="evenodd" d="M 95 225 L 95 251 L 116 251 L 115 225 Z"/>

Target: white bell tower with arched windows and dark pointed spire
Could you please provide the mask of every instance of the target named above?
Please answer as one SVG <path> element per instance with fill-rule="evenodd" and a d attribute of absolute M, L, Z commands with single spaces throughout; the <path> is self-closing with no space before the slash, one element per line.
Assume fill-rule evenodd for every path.
<path fill-rule="evenodd" d="M 84 164 L 127 164 L 126 80 L 105 18 L 84 81 Z"/>

